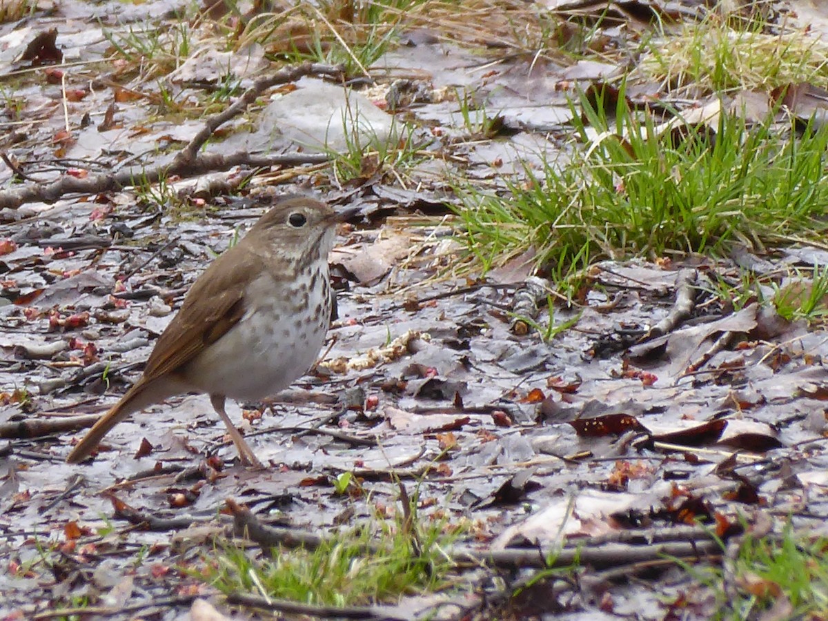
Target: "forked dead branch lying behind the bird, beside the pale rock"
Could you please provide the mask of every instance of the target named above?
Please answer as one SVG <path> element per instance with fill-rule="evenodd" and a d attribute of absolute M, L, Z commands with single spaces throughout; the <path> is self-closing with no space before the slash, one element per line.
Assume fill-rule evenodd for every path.
<path fill-rule="evenodd" d="M 58 181 L 51 183 L 26 183 L 14 190 L 0 192 L 0 209 L 17 209 L 21 205 L 31 202 L 54 203 L 69 194 L 99 194 L 123 190 L 124 187 L 135 185 L 136 180 L 144 183 L 156 183 L 162 178 L 177 176 L 187 178 L 203 175 L 207 172 L 226 171 L 233 166 L 253 166 L 256 168 L 268 166 L 299 166 L 301 164 L 319 164 L 330 160 L 325 153 L 290 153 L 282 155 L 259 156 L 246 151 L 222 155 L 219 153 L 199 153 L 201 147 L 213 135 L 215 130 L 229 119 L 242 113 L 248 105 L 253 103 L 262 92 L 276 84 L 286 84 L 296 81 L 306 75 L 339 76 L 342 71 L 332 65 L 303 63 L 291 67 L 284 67 L 272 75 L 256 80 L 249 89 L 244 91 L 232 105 L 222 112 L 214 114 L 205 121 L 204 127 L 195 134 L 195 137 L 179 152 L 171 164 L 156 166 L 155 168 L 130 168 L 113 174 L 98 174 L 83 179 L 74 176 L 61 176 Z"/>

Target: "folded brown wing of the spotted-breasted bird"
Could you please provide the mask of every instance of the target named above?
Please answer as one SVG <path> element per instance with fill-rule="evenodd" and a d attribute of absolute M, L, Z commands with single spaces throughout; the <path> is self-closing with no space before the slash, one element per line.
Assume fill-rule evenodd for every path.
<path fill-rule="evenodd" d="M 175 373 L 227 334 L 244 315 L 248 284 L 244 277 L 261 269 L 262 259 L 241 246 L 230 248 L 212 262 L 157 340 L 144 368 L 144 379 Z"/>

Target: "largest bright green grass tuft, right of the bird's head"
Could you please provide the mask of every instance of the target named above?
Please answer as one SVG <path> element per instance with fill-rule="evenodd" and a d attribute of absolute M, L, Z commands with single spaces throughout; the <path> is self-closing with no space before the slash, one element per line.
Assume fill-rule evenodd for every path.
<path fill-rule="evenodd" d="M 715 255 L 734 242 L 763 248 L 828 232 L 828 129 L 788 139 L 771 123 L 725 113 L 712 128 L 665 129 L 630 110 L 623 89 L 614 115 L 600 98 L 581 104 L 575 131 L 585 147 L 565 164 L 503 180 L 501 193 L 456 188 L 465 241 L 484 269 L 529 248 L 539 267 L 560 273 L 603 258 Z"/>

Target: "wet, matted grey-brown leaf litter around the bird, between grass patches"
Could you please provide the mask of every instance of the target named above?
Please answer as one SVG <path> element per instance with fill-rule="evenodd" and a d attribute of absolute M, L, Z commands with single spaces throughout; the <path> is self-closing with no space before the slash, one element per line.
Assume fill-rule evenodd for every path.
<path fill-rule="evenodd" d="M 633 15 L 628 4 L 612 3 L 604 18 L 627 23 L 631 33 L 648 27 L 649 17 L 641 21 L 647 12 Z M 142 6 L 118 15 L 121 35 L 132 32 L 124 27 L 131 19 L 157 15 L 160 25 L 162 13 L 181 9 L 170 2 Z M 60 2 L 75 21 L 61 24 L 56 37 L 45 16 L 29 30 L 2 24 L 0 40 L 20 50 L 6 48 L 2 73 L 23 71 L 20 86 L 4 91 L 9 133 L 2 152 L 10 161 L 0 173 L 4 190 L 14 189 L 12 180 L 49 182 L 169 163 L 204 119 L 174 118 L 176 102 L 165 109 L 161 87 L 178 89 L 184 106 L 198 100 L 204 84 L 216 84 L 224 67 L 233 68 L 240 85 L 247 79 L 246 87 L 246 72 L 262 64 L 260 51 L 227 55 L 205 36 L 175 80 L 130 76 L 121 60 L 107 56 L 99 26 L 88 27 L 96 19 L 112 24 L 118 7 Z M 579 10 L 597 14 L 590 3 Z M 487 17 L 492 24 L 499 18 Z M 823 249 L 788 248 L 769 267 L 747 251 L 733 260 L 601 262 L 580 305 L 535 309 L 537 328 L 575 321 L 551 339 L 513 328 L 516 291 L 533 272 L 531 252 L 493 270 L 488 281 L 464 271 L 462 248 L 443 221 L 444 201 L 454 200 L 445 171 L 498 185 L 501 175 L 521 176 L 527 166 L 566 157 L 561 137 L 575 113 L 566 94 L 574 83 L 611 80 L 621 66 L 559 56 L 527 60 L 522 42 L 492 24 L 485 58 L 475 51 L 479 36 L 461 29 L 451 41 L 425 19 L 420 30 L 402 36 L 407 46 L 378 63 L 391 75 L 409 74 L 428 93 L 395 104 L 431 136 L 424 147 L 431 157 L 405 175 L 363 160 L 364 170 L 349 181 L 313 168 L 278 179 L 283 171 L 266 172 L 253 177 L 254 191 L 243 190 L 242 199 L 135 185 L 3 209 L 4 619 L 46 619 L 56 607 L 82 609 L 81 602 L 108 616 L 154 619 L 177 619 L 185 610 L 195 619 L 215 605 L 217 618 L 226 618 L 226 601 L 190 570 L 216 553 L 215 542 L 228 541 L 228 513 L 238 519 L 233 499 L 250 509 L 250 524 L 325 533 L 359 523 L 381 505 L 392 519 L 402 481 L 416 484 L 422 515 L 465 523 L 449 553 L 458 567 L 473 558 L 477 570 L 458 570 L 460 589 L 434 599 L 369 602 L 385 604 L 365 612 L 376 618 L 566 613 L 594 619 L 600 609 L 661 619 L 688 597 L 687 614 L 708 618 L 710 599 L 688 596 L 691 579 L 675 568 L 651 577 L 647 588 L 612 571 L 638 573 L 663 554 L 720 553 L 709 546 L 710 529 L 735 536 L 743 520 L 750 529 L 768 515 L 793 516 L 800 527 L 821 528 L 825 332 L 819 324 L 781 320 L 758 302 L 728 308 L 710 291 L 720 278 L 738 279 L 745 265 L 756 273 L 824 265 Z M 608 28 L 606 36 L 625 35 Z M 514 56 L 498 52 L 501 46 Z M 50 77 L 34 68 L 60 63 L 52 50 L 62 52 L 64 65 L 53 65 L 62 73 Z M 209 58 L 209 65 L 188 64 L 197 58 Z M 68 66 L 69 60 L 81 64 Z M 100 88 L 84 86 L 93 76 Z M 288 92 L 296 88 L 301 84 Z M 468 123 L 462 89 L 472 98 L 465 103 L 477 106 Z M 805 118 L 823 107 L 819 93 L 816 85 L 800 86 L 787 104 Z M 105 120 L 113 101 L 110 128 L 84 127 L 84 115 Z M 387 108 L 382 97 L 371 101 L 380 104 L 373 113 Z M 700 112 L 712 108 L 699 102 L 698 122 L 714 127 Z M 721 104 L 713 105 L 720 113 Z M 327 127 L 338 106 L 332 103 L 316 129 Z M 267 109 L 254 111 L 253 121 Z M 247 121 L 230 123 L 230 147 L 248 140 L 240 129 Z M 266 131 L 260 126 L 254 134 L 258 148 L 296 148 L 296 141 L 290 147 L 264 140 Z M 208 151 L 222 148 L 214 142 Z M 246 181 L 253 168 L 228 178 Z M 67 467 L 63 459 L 80 433 L 75 425 L 90 424 L 77 419 L 105 411 L 137 377 L 195 275 L 261 213 L 266 200 L 256 196 L 267 193 L 261 186 L 275 184 L 363 205 L 365 218 L 340 231 L 331 258 L 339 319 L 321 362 L 264 407 L 229 404 L 229 415 L 271 468 L 250 472 L 233 464 L 232 446 L 204 396 L 133 416 L 107 437 L 95 460 Z M 437 219 L 408 217 L 416 209 Z M 695 273 L 691 310 L 659 334 L 653 328 L 674 310 L 682 269 Z M 355 485 L 336 493 L 335 480 L 345 474 Z M 537 567 L 563 567 L 575 557 L 580 585 L 527 583 Z M 314 610 L 295 612 L 303 613 Z"/>

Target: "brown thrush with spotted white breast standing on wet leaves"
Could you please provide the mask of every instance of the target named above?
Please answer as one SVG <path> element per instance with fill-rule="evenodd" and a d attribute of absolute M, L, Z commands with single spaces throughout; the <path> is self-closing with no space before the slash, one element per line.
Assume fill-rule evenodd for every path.
<path fill-rule="evenodd" d="M 278 200 L 196 279 L 142 377 L 66 460 L 83 460 L 132 412 L 206 392 L 242 463 L 262 467 L 224 412 L 224 399 L 272 396 L 314 363 L 330 325 L 328 253 L 336 224 L 355 212 L 299 196 Z"/>

